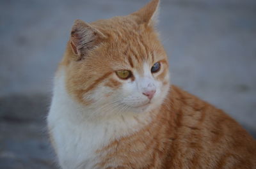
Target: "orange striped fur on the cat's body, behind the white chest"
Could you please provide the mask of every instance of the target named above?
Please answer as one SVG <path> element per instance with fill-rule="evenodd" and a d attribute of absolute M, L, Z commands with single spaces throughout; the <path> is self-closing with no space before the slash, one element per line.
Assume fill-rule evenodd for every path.
<path fill-rule="evenodd" d="M 256 168 L 256 142 L 220 109 L 172 85 L 154 121 L 97 153 L 118 168 Z M 105 152 L 105 153 L 103 153 Z"/>

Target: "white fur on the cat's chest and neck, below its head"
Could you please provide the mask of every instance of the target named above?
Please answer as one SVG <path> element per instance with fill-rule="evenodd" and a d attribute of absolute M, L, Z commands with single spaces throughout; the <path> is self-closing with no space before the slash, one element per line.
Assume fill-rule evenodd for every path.
<path fill-rule="evenodd" d="M 89 121 L 84 114 L 91 111 L 68 95 L 65 71 L 59 71 L 54 82 L 47 122 L 61 168 L 95 168 L 95 164 L 100 162 L 97 150 L 108 145 L 111 140 L 140 129 L 143 124 L 139 124 L 136 119 L 141 118 L 145 123 L 150 121 L 148 114 L 139 115 L 136 119 L 131 115 Z"/>

